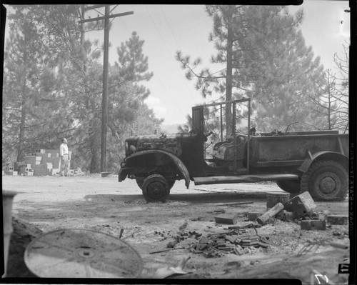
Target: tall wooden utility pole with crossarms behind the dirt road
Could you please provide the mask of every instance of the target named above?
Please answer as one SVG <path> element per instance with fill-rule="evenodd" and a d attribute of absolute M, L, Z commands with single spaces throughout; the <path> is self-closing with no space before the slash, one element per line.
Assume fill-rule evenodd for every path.
<path fill-rule="evenodd" d="M 109 19 L 120 16 L 134 14 L 134 11 L 110 15 L 110 5 L 93 5 L 86 7 L 85 10 L 105 7 L 104 16 L 93 19 L 84 19 L 80 24 L 90 21 L 104 20 L 104 59 L 103 59 L 103 96 L 101 99 L 101 172 L 106 171 L 106 121 L 107 121 L 107 93 L 108 93 L 108 66 L 109 66 Z"/>

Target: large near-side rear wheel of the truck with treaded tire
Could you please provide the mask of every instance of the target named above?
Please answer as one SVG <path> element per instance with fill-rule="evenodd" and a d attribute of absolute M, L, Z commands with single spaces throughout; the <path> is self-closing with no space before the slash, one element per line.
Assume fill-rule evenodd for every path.
<path fill-rule="evenodd" d="M 333 160 L 316 161 L 301 177 L 301 192 L 310 192 L 311 197 L 316 200 L 343 200 L 347 195 L 347 188 L 348 171 Z"/>

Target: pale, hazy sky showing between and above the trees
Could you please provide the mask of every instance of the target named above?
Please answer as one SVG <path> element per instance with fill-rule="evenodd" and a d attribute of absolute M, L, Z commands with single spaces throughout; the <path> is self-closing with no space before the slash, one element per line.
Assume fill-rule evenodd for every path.
<path fill-rule="evenodd" d="M 301 6 L 289 6 L 291 13 L 303 8 L 305 17 L 301 26 L 307 46 L 312 46 L 315 56 L 321 57 L 325 69 L 333 68 L 333 54 L 343 51 L 342 44 L 349 40 L 350 14 L 348 1 L 311 1 Z M 213 44 L 208 41 L 213 21 L 202 5 L 112 5 L 112 14 L 134 11 L 133 15 L 111 20 L 109 41 L 109 62 L 118 61 L 116 48 L 127 41 L 136 31 L 144 39 L 143 51 L 149 58 L 149 71 L 154 76 L 143 84 L 151 94 L 146 104 L 154 110 L 156 117 L 164 119 L 164 125 L 185 124 L 191 107 L 216 99 L 203 99 L 194 87 L 195 80 L 188 81 L 176 51 L 191 59 L 200 57 L 201 67 L 209 66 L 210 57 L 215 54 Z M 104 13 L 88 11 L 86 18 Z M 92 31 L 87 39 L 104 41 L 104 31 Z"/>

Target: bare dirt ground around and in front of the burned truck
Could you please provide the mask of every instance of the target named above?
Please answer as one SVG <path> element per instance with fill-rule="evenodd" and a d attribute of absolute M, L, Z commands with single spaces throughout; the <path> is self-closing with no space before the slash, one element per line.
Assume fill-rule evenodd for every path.
<path fill-rule="evenodd" d="M 274 183 L 218 184 L 186 189 L 176 181 L 165 203 L 146 203 L 136 182 L 117 176 L 2 176 L 3 189 L 17 191 L 13 204 L 14 234 L 11 237 L 8 277 L 35 277 L 26 269 L 24 250 L 36 236 L 56 229 L 91 229 L 119 236 L 139 252 L 144 262 L 141 279 L 154 278 L 157 269 L 176 266 L 183 256 L 190 256 L 185 270 L 190 274 L 171 278 L 183 279 L 299 279 L 303 284 L 319 284 L 314 274 L 328 278 L 328 284 L 347 284 L 348 274 L 338 274 L 338 264 L 349 263 L 349 249 L 329 244 L 337 241 L 349 245 L 348 226 L 332 225 L 326 231 L 301 230 L 298 224 L 276 220 L 258 229 L 268 237 L 268 248 L 249 247 L 238 256 L 225 254 L 206 258 L 188 250 L 195 236 L 167 249 L 181 232 L 195 232 L 201 237 L 228 231 L 227 225 L 216 224 L 214 216 L 238 213 L 238 226 L 247 221 L 246 214 L 266 211 L 266 192 L 280 191 Z M 253 202 L 238 206 L 222 203 Z M 218 205 L 217 205 L 218 204 Z M 317 201 L 316 211 L 348 215 L 348 201 Z M 298 252 L 309 241 L 318 241 L 307 254 Z M 344 259 L 344 261 L 343 261 Z M 321 279 L 321 284 L 326 279 Z"/>

